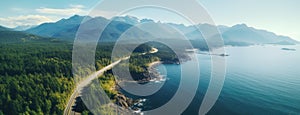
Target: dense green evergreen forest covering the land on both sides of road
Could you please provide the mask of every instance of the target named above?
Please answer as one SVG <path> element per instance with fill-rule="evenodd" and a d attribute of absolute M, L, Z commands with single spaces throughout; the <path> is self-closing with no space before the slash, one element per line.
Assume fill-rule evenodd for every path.
<path fill-rule="evenodd" d="M 0 115 L 63 114 L 75 88 L 72 74 L 70 42 L 43 38 L 14 31 L 0 31 Z M 95 57 L 97 70 L 111 63 L 113 43 L 98 44 Z M 176 60 L 159 49 L 158 53 L 140 55 L 151 50 L 149 45 L 135 49 L 130 58 L 134 79 L 143 78 L 147 64 L 158 60 Z M 178 61 L 178 60 L 177 60 Z M 105 92 L 115 99 L 113 75 L 99 78 Z"/>

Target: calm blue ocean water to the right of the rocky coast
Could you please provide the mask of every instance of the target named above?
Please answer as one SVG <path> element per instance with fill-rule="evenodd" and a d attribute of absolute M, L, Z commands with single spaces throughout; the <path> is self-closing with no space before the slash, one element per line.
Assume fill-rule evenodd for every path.
<path fill-rule="evenodd" d="M 226 47 L 226 52 L 229 56 L 223 57 L 226 58 L 227 70 L 224 86 L 208 114 L 300 114 L 300 46 Z M 210 56 L 197 54 L 197 58 L 200 62 L 200 80 L 193 101 L 183 112 L 186 115 L 198 114 L 210 81 Z M 182 64 L 193 64 L 195 61 Z M 138 97 L 147 99 L 143 110 L 158 108 L 172 99 L 180 83 L 181 66 L 162 64 L 157 67 L 168 80 L 155 94 Z M 195 84 L 189 85 L 192 87 Z"/>

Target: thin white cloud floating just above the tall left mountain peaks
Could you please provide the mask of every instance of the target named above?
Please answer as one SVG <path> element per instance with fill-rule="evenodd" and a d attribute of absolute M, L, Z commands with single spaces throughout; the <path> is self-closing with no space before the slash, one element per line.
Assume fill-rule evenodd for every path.
<path fill-rule="evenodd" d="M 54 15 L 61 15 L 61 16 L 71 16 L 74 14 L 86 14 L 83 5 L 74 5 L 71 4 L 69 8 L 38 8 L 36 9 L 38 13 L 43 14 L 54 14 Z"/>

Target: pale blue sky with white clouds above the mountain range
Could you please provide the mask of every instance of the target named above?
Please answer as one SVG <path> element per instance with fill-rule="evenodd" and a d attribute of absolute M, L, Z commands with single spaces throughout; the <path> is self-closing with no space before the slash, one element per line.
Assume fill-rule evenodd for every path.
<path fill-rule="evenodd" d="M 55 22 L 74 14 L 87 15 L 101 1 L 3 0 L 0 2 L 0 25 L 13 28 Z M 198 0 L 198 2 L 207 10 L 216 25 L 233 26 L 244 23 L 300 41 L 300 0 Z M 172 3 L 179 4 L 179 0 L 172 0 Z M 99 15 L 111 18 L 112 12 L 115 11 L 99 11 Z M 199 15 L 197 11 L 192 13 L 195 16 Z M 162 22 L 187 23 L 183 18 L 157 9 L 140 9 L 126 15 L 152 18 Z"/>

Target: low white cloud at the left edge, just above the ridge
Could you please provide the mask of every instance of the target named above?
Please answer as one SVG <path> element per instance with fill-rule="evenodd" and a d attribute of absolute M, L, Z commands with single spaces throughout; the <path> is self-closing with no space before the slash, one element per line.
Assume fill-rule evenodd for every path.
<path fill-rule="evenodd" d="M 0 18 L 0 25 L 16 27 L 24 25 L 39 25 L 44 22 L 53 22 L 54 17 L 50 18 L 41 15 L 21 15 L 16 17 Z"/>

